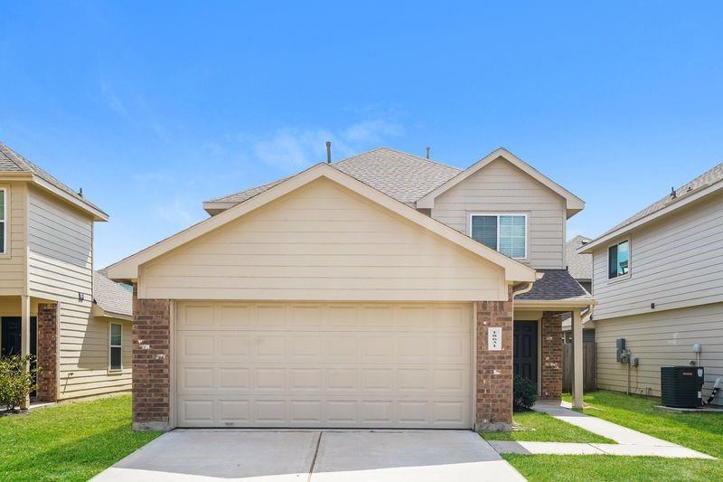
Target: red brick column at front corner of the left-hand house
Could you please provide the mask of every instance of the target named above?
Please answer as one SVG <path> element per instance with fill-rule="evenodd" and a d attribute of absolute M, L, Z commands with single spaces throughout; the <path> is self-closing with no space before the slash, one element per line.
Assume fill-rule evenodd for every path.
<path fill-rule="evenodd" d="M 58 304 L 38 304 L 37 334 L 38 373 L 37 396 L 40 402 L 58 399 Z"/>

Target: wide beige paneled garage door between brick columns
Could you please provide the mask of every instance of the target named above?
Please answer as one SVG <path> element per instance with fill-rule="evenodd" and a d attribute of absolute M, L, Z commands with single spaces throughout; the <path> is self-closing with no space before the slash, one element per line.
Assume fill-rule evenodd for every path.
<path fill-rule="evenodd" d="M 470 428 L 472 306 L 183 302 L 179 427 Z"/>

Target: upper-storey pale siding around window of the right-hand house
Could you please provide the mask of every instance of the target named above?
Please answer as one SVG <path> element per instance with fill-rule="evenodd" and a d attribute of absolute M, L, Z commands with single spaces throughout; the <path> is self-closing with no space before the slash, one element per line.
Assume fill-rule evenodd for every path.
<path fill-rule="evenodd" d="M 723 194 L 631 233 L 630 277 L 607 279 L 607 245 L 593 253 L 595 319 L 723 301 Z"/>

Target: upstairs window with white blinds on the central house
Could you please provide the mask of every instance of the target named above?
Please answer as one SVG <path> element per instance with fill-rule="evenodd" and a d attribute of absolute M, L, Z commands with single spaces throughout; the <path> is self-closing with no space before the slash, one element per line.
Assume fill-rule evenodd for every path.
<path fill-rule="evenodd" d="M 472 214 L 470 236 L 510 258 L 527 258 L 526 214 Z"/>

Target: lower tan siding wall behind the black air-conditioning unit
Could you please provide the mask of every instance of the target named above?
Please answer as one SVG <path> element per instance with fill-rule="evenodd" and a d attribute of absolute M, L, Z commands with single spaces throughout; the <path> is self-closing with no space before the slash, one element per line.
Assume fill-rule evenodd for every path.
<path fill-rule="evenodd" d="M 615 363 L 617 338 L 625 338 L 639 359 L 630 369 L 631 392 L 660 396 L 660 367 L 689 365 L 696 359 L 694 344 L 703 346 L 706 397 L 715 379 L 723 377 L 723 303 L 596 321 L 597 386 L 624 392 L 627 365 Z M 716 403 L 723 404 L 723 393 Z"/>

